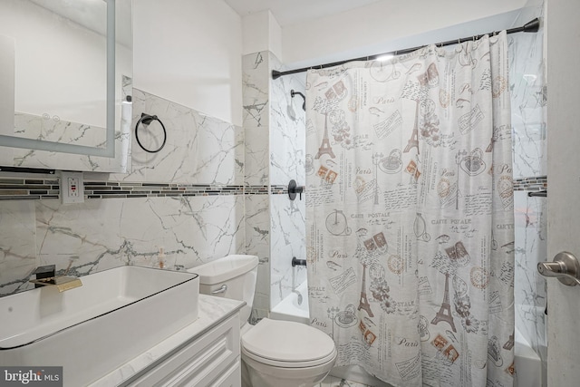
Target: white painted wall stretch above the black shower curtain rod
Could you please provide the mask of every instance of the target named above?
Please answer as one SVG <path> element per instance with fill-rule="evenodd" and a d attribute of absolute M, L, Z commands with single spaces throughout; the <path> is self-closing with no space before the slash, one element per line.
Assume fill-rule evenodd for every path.
<path fill-rule="evenodd" d="M 408 45 L 397 46 L 396 41 L 409 44 L 408 38 L 418 34 L 425 36 L 413 45 L 437 43 L 440 38 L 426 33 L 505 14 L 525 4 L 526 0 L 405 0 L 398 4 L 385 0 L 284 27 L 281 60 L 286 65 L 300 67 L 388 52 L 391 47 L 407 48 Z M 493 26 L 481 24 L 483 30 L 478 30 L 478 24 L 468 23 L 466 28 L 468 35 L 485 34 Z M 463 36 L 451 35 L 448 39 L 456 37 Z"/>

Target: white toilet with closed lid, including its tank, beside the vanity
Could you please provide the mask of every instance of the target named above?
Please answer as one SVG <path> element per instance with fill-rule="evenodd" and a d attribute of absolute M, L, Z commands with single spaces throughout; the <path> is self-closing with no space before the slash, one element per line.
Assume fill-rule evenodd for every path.
<path fill-rule="evenodd" d="M 246 301 L 240 311 L 242 386 L 312 387 L 333 368 L 333 339 L 312 326 L 262 319 L 247 323 L 257 278 L 257 256 L 225 256 L 189 269 L 199 293 Z"/>

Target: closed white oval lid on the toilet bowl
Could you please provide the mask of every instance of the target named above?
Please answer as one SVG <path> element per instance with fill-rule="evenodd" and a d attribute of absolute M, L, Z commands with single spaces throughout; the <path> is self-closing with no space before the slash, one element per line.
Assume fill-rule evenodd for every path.
<path fill-rule="evenodd" d="M 334 342 L 312 326 L 263 318 L 242 336 L 242 352 L 257 362 L 283 367 L 309 367 L 336 356 Z"/>

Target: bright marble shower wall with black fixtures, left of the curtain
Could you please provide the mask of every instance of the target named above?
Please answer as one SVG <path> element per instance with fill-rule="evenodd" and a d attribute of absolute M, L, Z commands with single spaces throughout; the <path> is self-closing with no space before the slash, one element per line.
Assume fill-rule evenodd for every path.
<path fill-rule="evenodd" d="M 270 67 L 285 70 L 282 63 L 270 53 Z M 294 179 L 298 186 L 305 183 L 305 111 L 304 100 L 291 91 L 305 94 L 305 73 L 286 75 L 271 80 L 270 84 L 270 182 L 288 185 Z M 292 257 L 306 259 L 305 207 L 297 196 L 270 196 L 271 254 L 270 306 L 274 307 L 292 290 L 306 281 L 304 266 L 292 266 Z"/>

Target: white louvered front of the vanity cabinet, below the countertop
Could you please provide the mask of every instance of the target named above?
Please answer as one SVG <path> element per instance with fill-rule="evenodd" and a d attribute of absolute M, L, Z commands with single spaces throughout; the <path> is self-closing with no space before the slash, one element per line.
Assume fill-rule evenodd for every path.
<path fill-rule="evenodd" d="M 241 385 L 239 316 L 234 314 L 190 343 L 153 363 L 127 386 Z M 136 375 L 139 376 L 139 375 Z"/>

